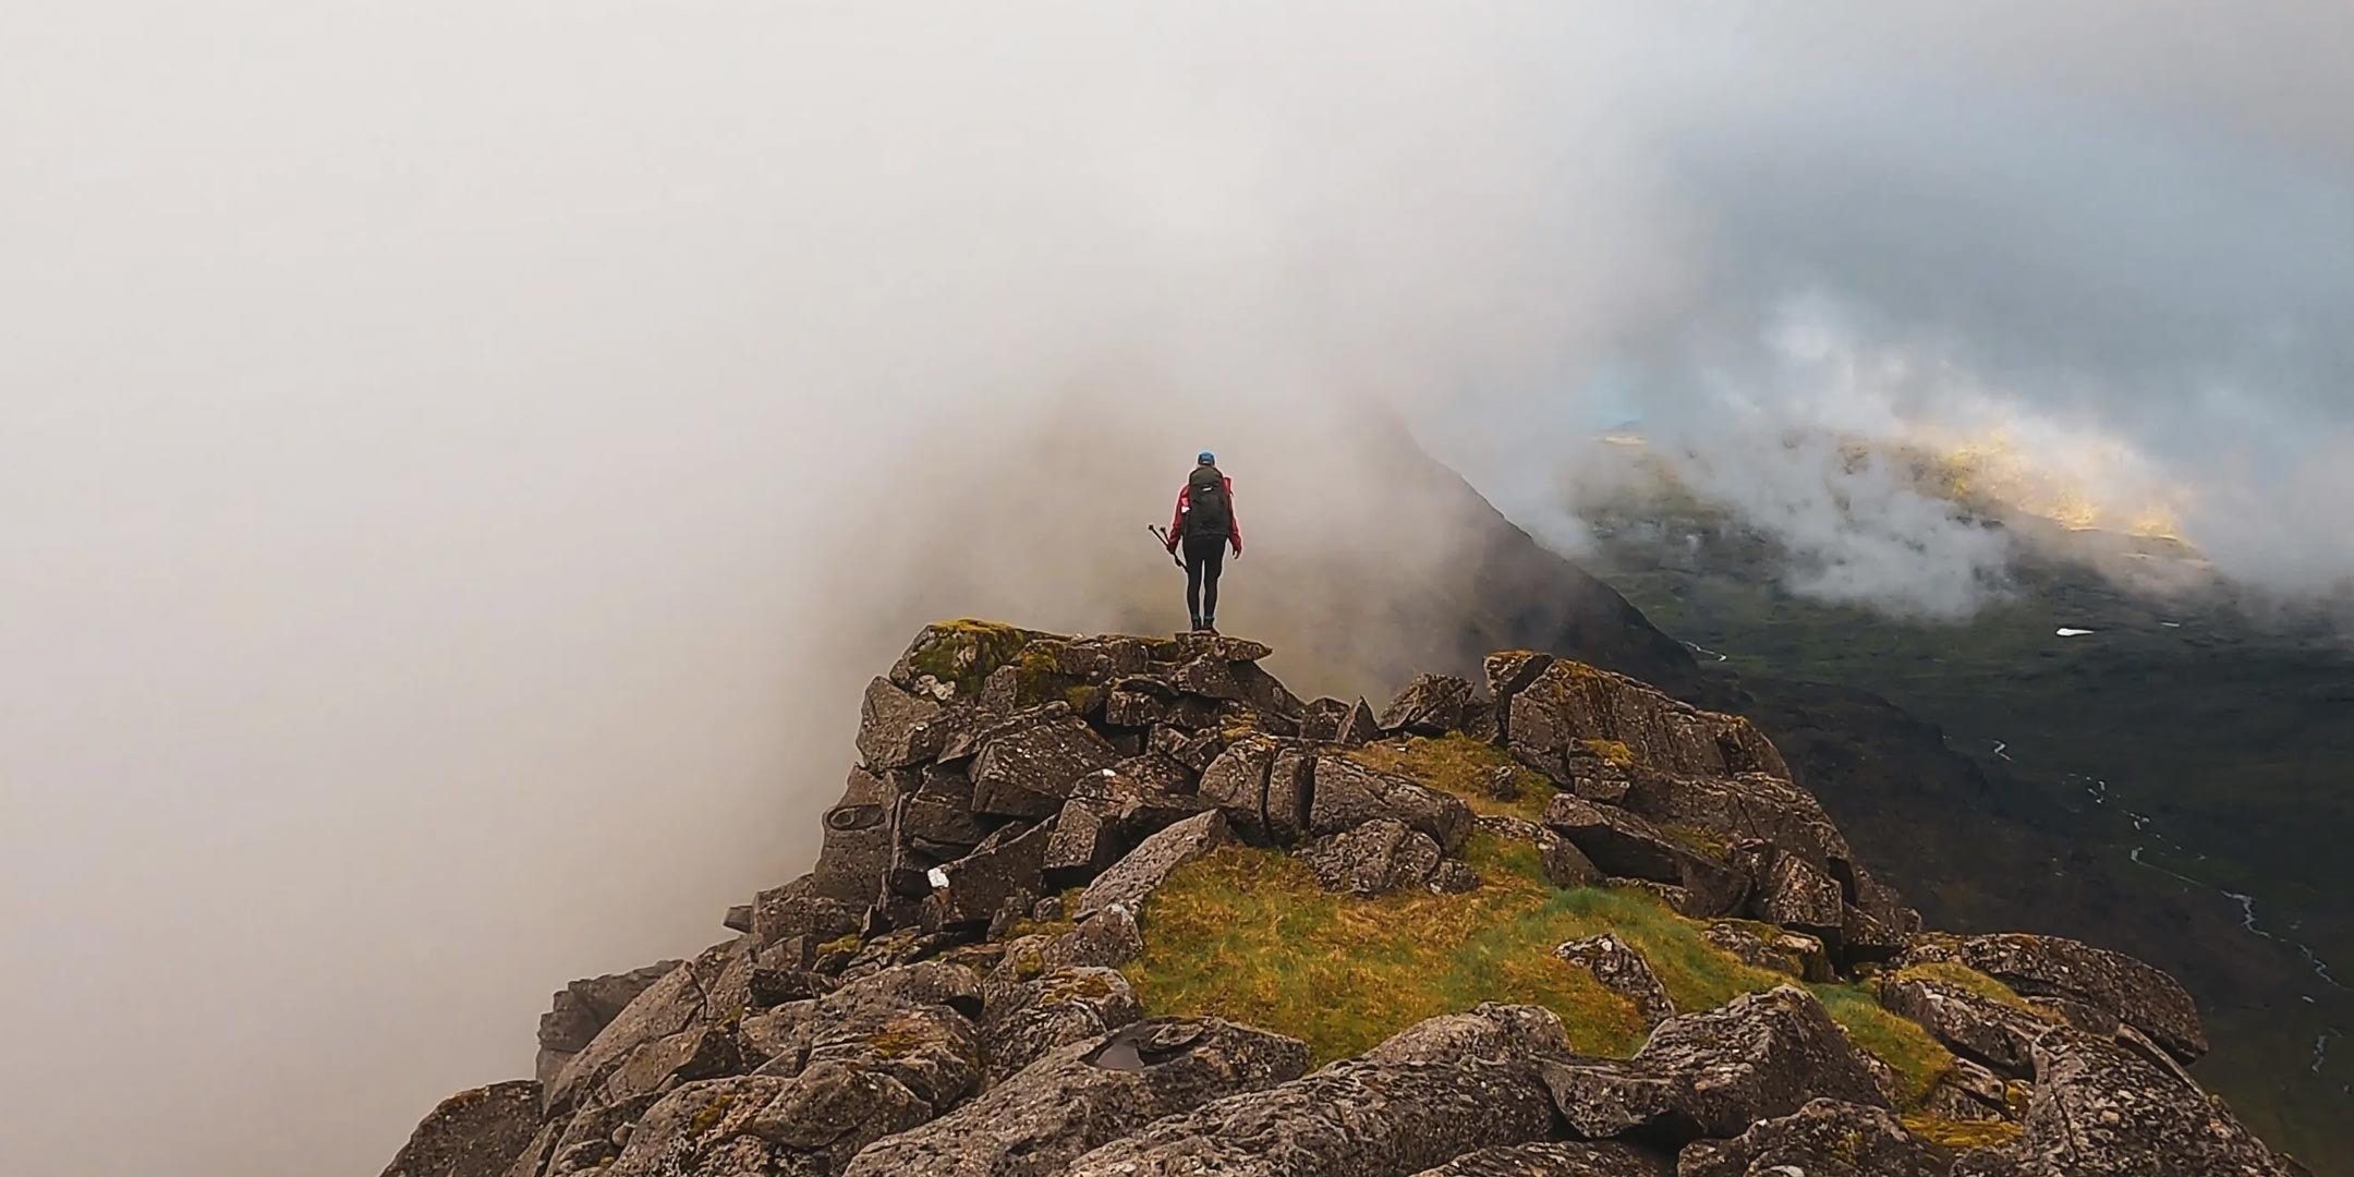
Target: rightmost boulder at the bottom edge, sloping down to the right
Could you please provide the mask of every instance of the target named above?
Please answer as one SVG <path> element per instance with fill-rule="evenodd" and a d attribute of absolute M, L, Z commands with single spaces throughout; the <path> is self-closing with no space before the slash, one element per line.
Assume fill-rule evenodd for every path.
<path fill-rule="evenodd" d="M 2199 1088 L 2133 1050 L 2055 1029 L 2036 1040 L 2024 1137 L 2001 1149 L 2020 1177 L 2300 1172 Z"/>

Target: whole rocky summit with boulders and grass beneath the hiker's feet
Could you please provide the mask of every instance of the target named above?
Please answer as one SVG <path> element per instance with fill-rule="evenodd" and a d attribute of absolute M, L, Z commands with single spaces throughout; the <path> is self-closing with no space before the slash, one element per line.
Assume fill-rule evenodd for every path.
<path fill-rule="evenodd" d="M 2293 1175 L 2128 956 L 1921 925 L 1747 720 L 1499 652 L 927 626 L 810 873 L 386 1177 Z"/>

